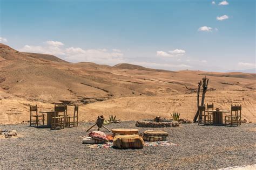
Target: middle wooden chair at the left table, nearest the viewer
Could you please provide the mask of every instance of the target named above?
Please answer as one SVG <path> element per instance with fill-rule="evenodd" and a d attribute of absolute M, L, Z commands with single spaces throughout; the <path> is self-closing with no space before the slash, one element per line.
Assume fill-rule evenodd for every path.
<path fill-rule="evenodd" d="M 66 107 L 63 105 L 62 106 L 55 105 L 54 111 L 55 112 L 51 118 L 51 129 L 57 129 L 57 128 L 64 129 Z"/>

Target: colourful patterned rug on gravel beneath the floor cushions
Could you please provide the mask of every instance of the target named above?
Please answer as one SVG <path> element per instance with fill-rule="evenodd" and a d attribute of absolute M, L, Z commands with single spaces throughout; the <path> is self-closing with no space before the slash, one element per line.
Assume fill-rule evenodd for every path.
<path fill-rule="evenodd" d="M 105 144 L 85 144 L 89 148 L 112 148 L 113 143 L 108 142 Z M 169 141 L 145 141 L 144 146 L 177 146 L 177 144 Z"/>

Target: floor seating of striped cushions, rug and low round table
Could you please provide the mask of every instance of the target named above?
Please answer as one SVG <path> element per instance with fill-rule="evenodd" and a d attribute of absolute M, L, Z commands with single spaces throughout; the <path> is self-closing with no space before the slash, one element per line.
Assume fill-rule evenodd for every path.
<path fill-rule="evenodd" d="M 139 133 L 138 129 L 112 129 L 112 134 L 92 131 L 83 136 L 83 144 L 90 148 L 139 149 L 144 146 L 177 146 L 166 141 L 168 133 L 161 130 L 146 130 Z"/>

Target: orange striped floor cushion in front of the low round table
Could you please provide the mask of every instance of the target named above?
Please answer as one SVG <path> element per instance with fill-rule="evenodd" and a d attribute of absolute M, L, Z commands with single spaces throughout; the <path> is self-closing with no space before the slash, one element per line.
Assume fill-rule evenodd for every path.
<path fill-rule="evenodd" d="M 113 146 L 117 148 L 143 148 L 144 140 L 138 134 L 114 136 Z"/>

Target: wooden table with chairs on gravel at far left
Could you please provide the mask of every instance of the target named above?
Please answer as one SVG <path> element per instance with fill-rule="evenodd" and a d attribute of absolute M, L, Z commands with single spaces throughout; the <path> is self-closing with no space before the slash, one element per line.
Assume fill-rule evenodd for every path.
<path fill-rule="evenodd" d="M 46 114 L 46 115 L 45 115 Z M 47 124 L 45 125 L 45 117 Z M 30 126 L 51 129 L 64 129 L 78 126 L 78 105 L 75 105 L 72 115 L 68 115 L 66 104 L 55 104 L 54 110 L 38 111 L 37 105 L 30 105 Z"/>

